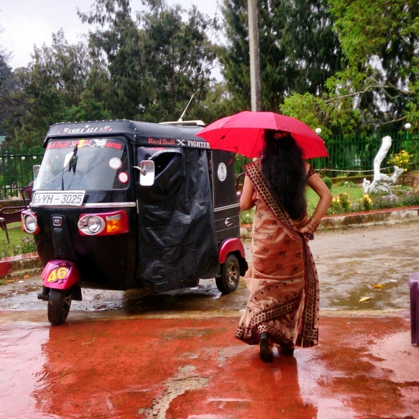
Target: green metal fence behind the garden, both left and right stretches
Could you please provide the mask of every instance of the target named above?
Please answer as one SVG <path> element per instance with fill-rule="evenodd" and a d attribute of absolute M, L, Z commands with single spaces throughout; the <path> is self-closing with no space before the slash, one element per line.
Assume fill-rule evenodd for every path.
<path fill-rule="evenodd" d="M 419 133 L 388 133 L 375 135 L 333 135 L 323 138 L 329 157 L 310 159 L 311 166 L 328 177 L 367 175 L 373 172 L 373 161 L 381 140 L 390 135 L 392 145 L 381 170 L 392 171 L 388 159 L 391 154 L 406 150 L 413 154 L 410 170 L 419 167 Z M 33 166 L 41 164 L 45 150 L 43 147 L 6 147 L 0 146 L 0 199 L 19 196 L 20 189 L 34 180 Z M 244 172 L 244 164 L 251 161 L 237 155 L 235 172 Z"/>

